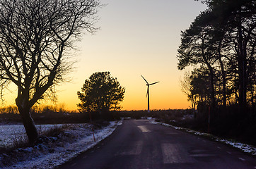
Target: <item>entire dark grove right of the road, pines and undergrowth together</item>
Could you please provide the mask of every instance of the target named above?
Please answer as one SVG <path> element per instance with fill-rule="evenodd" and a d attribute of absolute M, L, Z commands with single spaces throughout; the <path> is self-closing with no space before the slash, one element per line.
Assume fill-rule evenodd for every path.
<path fill-rule="evenodd" d="M 197 118 L 210 114 L 212 130 L 256 131 L 256 1 L 204 3 L 209 8 L 182 32 L 178 69 L 193 68 L 182 91 Z"/>

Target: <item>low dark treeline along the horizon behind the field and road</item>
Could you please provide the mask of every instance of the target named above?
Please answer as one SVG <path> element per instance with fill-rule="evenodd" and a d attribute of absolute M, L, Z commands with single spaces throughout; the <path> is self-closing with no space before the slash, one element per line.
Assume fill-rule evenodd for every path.
<path fill-rule="evenodd" d="M 146 110 L 141 111 L 106 111 L 106 112 L 80 112 L 74 113 L 71 111 L 58 111 L 56 106 L 42 106 L 41 111 L 34 111 L 32 109 L 31 115 L 35 120 L 35 124 L 62 124 L 62 123 L 100 123 L 102 121 L 109 120 L 121 120 L 125 119 L 141 119 L 146 117 L 156 118 L 164 123 L 169 123 L 170 121 L 180 122 L 184 120 L 186 115 L 192 115 L 192 109 L 175 109 L 175 110 L 152 110 L 150 113 Z M 0 113 L 0 123 L 6 122 L 16 122 L 22 123 L 21 116 L 18 114 L 16 106 L 7 106 L 0 108 L 4 113 Z M 179 125 L 179 124 L 178 124 Z"/>

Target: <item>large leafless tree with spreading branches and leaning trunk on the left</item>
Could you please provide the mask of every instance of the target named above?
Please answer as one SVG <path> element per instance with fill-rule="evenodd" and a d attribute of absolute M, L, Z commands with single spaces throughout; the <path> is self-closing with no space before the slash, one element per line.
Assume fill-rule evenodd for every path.
<path fill-rule="evenodd" d="M 70 70 L 67 49 L 94 27 L 98 0 L 0 0 L 0 84 L 18 88 L 16 105 L 30 143 L 30 108 Z"/>

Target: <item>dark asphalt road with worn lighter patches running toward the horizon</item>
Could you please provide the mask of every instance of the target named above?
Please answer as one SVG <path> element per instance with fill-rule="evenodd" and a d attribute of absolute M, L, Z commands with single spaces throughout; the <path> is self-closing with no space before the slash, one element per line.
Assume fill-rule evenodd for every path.
<path fill-rule="evenodd" d="M 256 158 L 148 120 L 124 120 L 110 137 L 59 168 L 255 169 Z"/>

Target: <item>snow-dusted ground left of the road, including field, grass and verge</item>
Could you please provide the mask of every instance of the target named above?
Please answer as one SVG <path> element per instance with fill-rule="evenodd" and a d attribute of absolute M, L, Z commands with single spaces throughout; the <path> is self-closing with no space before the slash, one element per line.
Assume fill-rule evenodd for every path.
<path fill-rule="evenodd" d="M 23 125 L 0 125 L 0 168 L 54 168 L 90 149 L 120 124 L 94 125 L 94 132 L 87 123 L 37 125 L 41 135 L 33 146 L 26 144 Z"/>

